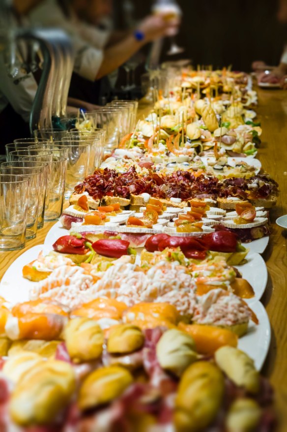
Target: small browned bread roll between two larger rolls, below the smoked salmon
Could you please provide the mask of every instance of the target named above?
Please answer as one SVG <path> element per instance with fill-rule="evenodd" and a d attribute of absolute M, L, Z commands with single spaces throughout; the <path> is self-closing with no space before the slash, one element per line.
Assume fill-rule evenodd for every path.
<path fill-rule="evenodd" d="M 111 354 L 136 351 L 144 345 L 142 330 L 133 324 L 118 324 L 111 328 L 107 350 Z"/>

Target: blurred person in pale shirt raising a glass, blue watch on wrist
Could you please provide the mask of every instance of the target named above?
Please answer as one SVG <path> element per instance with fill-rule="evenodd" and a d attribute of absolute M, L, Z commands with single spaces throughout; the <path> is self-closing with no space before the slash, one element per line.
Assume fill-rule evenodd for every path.
<path fill-rule="evenodd" d="M 179 20 L 149 15 L 130 31 L 112 30 L 112 0 L 42 0 L 27 14 L 33 25 L 58 27 L 71 37 L 75 51 L 71 97 L 97 103 L 99 80 L 130 59 L 146 43 L 174 35 Z"/>

